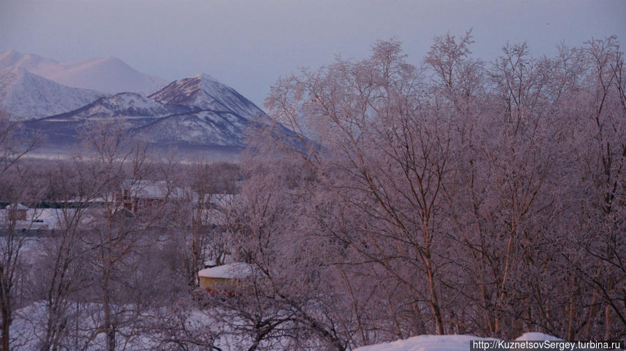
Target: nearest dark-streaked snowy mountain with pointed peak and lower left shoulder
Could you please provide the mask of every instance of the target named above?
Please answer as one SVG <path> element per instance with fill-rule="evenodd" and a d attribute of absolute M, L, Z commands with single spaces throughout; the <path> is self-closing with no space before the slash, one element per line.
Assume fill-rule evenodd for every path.
<path fill-rule="evenodd" d="M 259 124 L 263 115 L 233 88 L 201 74 L 175 81 L 150 97 L 132 92 L 101 97 L 26 126 L 42 131 L 54 143 L 76 141 L 90 124 L 116 120 L 133 138 L 153 145 L 244 147 L 244 131 Z"/>

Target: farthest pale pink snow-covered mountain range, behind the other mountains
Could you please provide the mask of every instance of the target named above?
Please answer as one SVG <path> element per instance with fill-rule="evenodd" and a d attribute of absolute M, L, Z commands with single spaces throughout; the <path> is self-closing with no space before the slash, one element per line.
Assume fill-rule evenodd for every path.
<path fill-rule="evenodd" d="M 58 63 L 35 54 L 6 51 L 0 54 L 0 70 L 19 67 L 57 83 L 115 94 L 140 92 L 148 95 L 163 88 L 167 81 L 134 70 L 119 58 L 92 58 Z"/>

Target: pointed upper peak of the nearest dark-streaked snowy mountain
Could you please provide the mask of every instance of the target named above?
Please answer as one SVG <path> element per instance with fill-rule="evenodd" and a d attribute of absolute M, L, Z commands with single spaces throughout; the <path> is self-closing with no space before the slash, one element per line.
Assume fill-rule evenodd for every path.
<path fill-rule="evenodd" d="M 149 96 L 162 104 L 177 104 L 201 110 L 228 111 L 245 118 L 258 119 L 265 113 L 235 89 L 208 74 L 174 81 Z"/>

